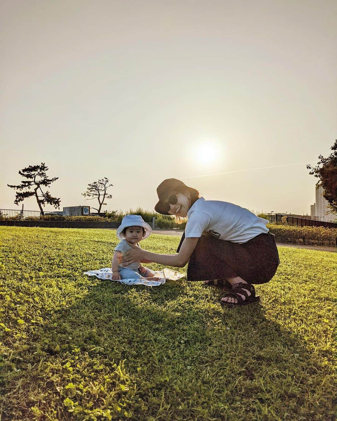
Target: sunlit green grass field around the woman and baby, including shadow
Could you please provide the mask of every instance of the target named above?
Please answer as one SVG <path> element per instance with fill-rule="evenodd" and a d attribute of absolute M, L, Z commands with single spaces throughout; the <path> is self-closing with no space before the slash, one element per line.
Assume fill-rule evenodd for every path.
<path fill-rule="evenodd" d="M 2 420 L 334 419 L 335 253 L 280 248 L 261 305 L 230 310 L 201 282 L 83 275 L 109 266 L 117 242 L 110 230 L 0 227 Z"/>

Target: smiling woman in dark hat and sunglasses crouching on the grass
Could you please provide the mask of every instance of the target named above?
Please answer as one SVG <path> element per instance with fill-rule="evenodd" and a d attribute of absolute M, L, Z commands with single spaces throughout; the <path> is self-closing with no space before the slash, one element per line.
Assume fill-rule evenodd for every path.
<path fill-rule="evenodd" d="M 206 281 L 227 289 L 221 298 L 228 307 L 259 301 L 252 284 L 268 282 L 280 260 L 268 221 L 233 203 L 205 200 L 180 180 L 166 179 L 157 188 L 155 210 L 177 219 L 187 217 L 185 235 L 176 254 L 158 254 L 137 246 L 123 257 L 182 267 L 188 263 L 188 281 Z"/>

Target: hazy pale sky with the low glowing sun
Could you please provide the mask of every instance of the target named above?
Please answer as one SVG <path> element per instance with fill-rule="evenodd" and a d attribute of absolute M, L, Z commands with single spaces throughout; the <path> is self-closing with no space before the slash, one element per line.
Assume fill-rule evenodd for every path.
<path fill-rule="evenodd" d="M 0 208 L 21 208 L 7 184 L 43 162 L 61 210 L 96 207 L 81 193 L 103 177 L 102 210 L 153 210 L 177 178 L 310 214 L 306 164 L 337 138 L 336 14 L 333 0 L 2 0 Z"/>

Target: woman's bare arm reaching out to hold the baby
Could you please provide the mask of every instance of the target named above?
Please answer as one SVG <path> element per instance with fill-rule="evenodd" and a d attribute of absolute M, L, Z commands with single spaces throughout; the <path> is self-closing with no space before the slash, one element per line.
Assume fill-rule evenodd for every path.
<path fill-rule="evenodd" d="M 183 267 L 190 260 L 190 257 L 197 245 L 199 237 L 185 238 L 179 253 L 176 254 L 159 254 L 151 251 L 143 250 L 140 247 L 132 246 L 133 250 L 128 250 L 123 255 L 123 264 L 129 265 L 135 261 L 147 261 L 163 264 L 165 266 Z"/>

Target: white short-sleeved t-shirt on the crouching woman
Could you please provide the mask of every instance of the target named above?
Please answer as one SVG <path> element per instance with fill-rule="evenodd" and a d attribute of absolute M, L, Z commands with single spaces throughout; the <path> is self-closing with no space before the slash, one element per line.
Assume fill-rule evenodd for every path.
<path fill-rule="evenodd" d="M 185 237 L 201 237 L 207 232 L 220 240 L 242 244 L 269 231 L 267 219 L 233 203 L 203 197 L 193 203 L 187 217 Z"/>

